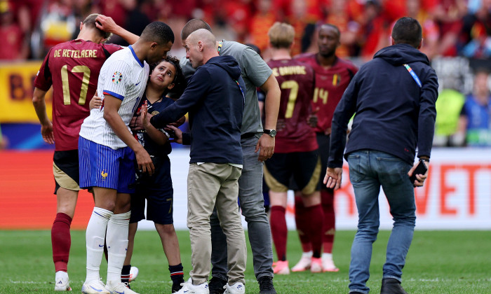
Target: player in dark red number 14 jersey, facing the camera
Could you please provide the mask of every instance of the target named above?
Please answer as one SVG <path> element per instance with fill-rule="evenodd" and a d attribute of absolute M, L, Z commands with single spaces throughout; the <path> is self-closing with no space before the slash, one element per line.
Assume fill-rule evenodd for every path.
<path fill-rule="evenodd" d="M 336 109 L 344 90 L 358 71 L 351 62 L 336 56 L 339 46 L 339 29 L 334 25 L 325 24 L 318 28 L 318 53 L 298 55 L 295 59 L 307 63 L 316 73 L 316 88 L 312 108 L 316 111 L 318 122 L 316 131 L 319 154 L 321 156 L 321 202 L 324 214 L 323 222 L 323 253 L 322 268 L 324 272 L 337 272 L 339 269 L 332 260 L 332 244 L 335 235 L 334 191 L 325 187 L 322 181 L 325 176 L 329 158 L 329 140 L 331 132 L 332 113 Z M 303 234 L 309 230 L 310 214 L 304 207 L 302 198 L 295 196 L 295 221 L 302 242 L 302 258 L 292 267 L 293 272 L 302 272 L 311 267 L 312 245 L 309 235 Z"/>

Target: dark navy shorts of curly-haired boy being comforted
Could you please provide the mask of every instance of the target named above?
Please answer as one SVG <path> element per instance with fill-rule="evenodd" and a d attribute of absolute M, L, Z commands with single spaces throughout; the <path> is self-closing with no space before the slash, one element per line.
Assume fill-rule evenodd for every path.
<path fill-rule="evenodd" d="M 170 178 L 170 160 L 167 156 L 152 158 L 155 174 L 144 174 L 137 180 L 135 193 L 131 195 L 130 223 L 145 219 L 145 200 L 147 200 L 147 220 L 160 225 L 170 225 L 173 220 L 174 190 Z"/>

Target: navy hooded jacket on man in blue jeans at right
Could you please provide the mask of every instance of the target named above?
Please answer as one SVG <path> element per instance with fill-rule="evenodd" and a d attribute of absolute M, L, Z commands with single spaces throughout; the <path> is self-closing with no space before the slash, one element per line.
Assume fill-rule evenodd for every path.
<path fill-rule="evenodd" d="M 412 78 L 408 64 L 421 81 Z M 361 66 L 332 118 L 329 167 L 342 167 L 349 119 L 354 116 L 346 155 L 362 149 L 395 155 L 412 165 L 430 156 L 435 130 L 438 78 L 429 59 L 408 44 L 379 50 Z"/>

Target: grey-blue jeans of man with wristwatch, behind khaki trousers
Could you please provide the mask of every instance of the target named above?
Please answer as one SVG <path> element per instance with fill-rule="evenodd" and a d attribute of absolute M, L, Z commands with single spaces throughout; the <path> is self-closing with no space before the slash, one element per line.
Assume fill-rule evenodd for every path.
<path fill-rule="evenodd" d="M 254 274 L 259 279 L 262 276 L 273 276 L 273 249 L 271 228 L 262 195 L 262 162 L 257 160 L 259 152 L 254 152 L 257 140 L 257 137 L 241 140 L 243 169 L 238 179 L 238 200 L 248 226 Z M 220 227 L 216 209 L 210 216 L 210 225 L 213 265 L 211 274 L 227 281 L 227 238 Z"/>

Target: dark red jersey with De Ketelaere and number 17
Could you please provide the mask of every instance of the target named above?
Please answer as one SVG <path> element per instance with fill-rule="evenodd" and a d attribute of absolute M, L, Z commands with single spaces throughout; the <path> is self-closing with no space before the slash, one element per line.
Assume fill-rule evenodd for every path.
<path fill-rule="evenodd" d="M 43 91 L 53 85 L 55 151 L 78 149 L 80 126 L 89 115 L 102 64 L 121 46 L 73 40 L 55 45 L 34 80 Z"/>

